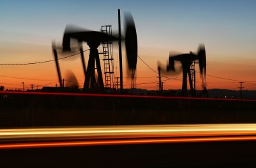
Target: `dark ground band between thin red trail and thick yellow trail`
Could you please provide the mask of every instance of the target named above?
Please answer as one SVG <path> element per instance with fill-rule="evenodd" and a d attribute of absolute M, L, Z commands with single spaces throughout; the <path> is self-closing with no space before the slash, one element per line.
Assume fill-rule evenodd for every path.
<path fill-rule="evenodd" d="M 0 94 L 0 127 L 256 123 L 256 101 Z"/>

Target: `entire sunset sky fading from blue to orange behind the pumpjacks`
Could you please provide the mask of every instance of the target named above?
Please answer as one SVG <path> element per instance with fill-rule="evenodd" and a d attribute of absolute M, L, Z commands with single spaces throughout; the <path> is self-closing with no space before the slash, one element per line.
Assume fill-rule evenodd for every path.
<path fill-rule="evenodd" d="M 158 61 L 166 66 L 169 52 L 197 52 L 205 45 L 207 89 L 256 90 L 256 1 L 166 0 L 166 1 L 5 1 L 0 2 L 0 64 L 53 60 L 52 41 L 61 43 L 67 24 L 100 31 L 101 26 L 118 29 L 117 9 L 130 11 L 137 29 L 138 55 L 155 71 Z M 84 50 L 88 46 L 84 44 Z M 102 50 L 102 48 L 98 48 Z M 86 63 L 89 52 L 84 52 Z M 115 69 L 118 47 L 114 46 Z M 63 78 L 73 71 L 82 87 L 84 73 L 79 55 L 60 60 Z M 102 65 L 103 66 L 103 65 Z M 125 50 L 123 66 L 126 67 Z M 196 65 L 197 71 L 198 65 Z M 137 88 L 156 89 L 158 75 L 140 59 Z M 117 71 L 116 77 L 118 77 Z M 124 87 L 131 81 L 124 73 Z M 181 89 L 182 73 L 164 74 L 164 89 Z M 0 85 L 6 89 L 27 89 L 59 85 L 55 62 L 37 65 L 0 65 Z M 197 89 L 201 89 L 197 74 Z"/>

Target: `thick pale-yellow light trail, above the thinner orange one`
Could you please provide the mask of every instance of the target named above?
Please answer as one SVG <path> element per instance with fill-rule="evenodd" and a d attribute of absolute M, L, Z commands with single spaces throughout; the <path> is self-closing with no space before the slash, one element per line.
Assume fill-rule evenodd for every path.
<path fill-rule="evenodd" d="M 184 124 L 1 129 L 0 140 L 3 138 L 31 136 L 118 136 L 123 134 L 168 134 L 168 136 L 187 136 L 188 134 L 256 134 L 256 124 Z"/>

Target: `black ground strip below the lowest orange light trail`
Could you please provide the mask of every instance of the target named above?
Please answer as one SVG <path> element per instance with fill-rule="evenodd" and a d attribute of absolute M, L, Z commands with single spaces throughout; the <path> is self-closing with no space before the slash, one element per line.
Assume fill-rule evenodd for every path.
<path fill-rule="evenodd" d="M 255 167 L 256 142 L 0 150 L 1 167 Z"/>

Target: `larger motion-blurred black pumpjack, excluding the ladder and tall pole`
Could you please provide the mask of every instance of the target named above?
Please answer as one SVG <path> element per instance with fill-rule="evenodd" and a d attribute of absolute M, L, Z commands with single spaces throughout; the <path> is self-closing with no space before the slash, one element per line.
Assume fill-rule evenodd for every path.
<path fill-rule="evenodd" d="M 109 34 L 105 34 L 104 32 L 96 32 L 81 29 L 77 26 L 68 25 L 65 28 L 63 36 L 63 52 L 71 52 L 71 42 L 73 42 L 71 41 L 71 39 L 77 42 L 81 54 L 83 53 L 82 42 L 86 42 L 90 48 L 87 69 L 84 61 L 84 55 L 82 54 L 82 65 L 85 74 L 83 91 L 103 92 L 104 81 L 102 77 L 102 70 L 100 67 L 100 56 L 98 53 L 98 46 L 100 46 L 102 42 L 117 41 L 119 40 L 119 38 L 117 38 L 116 36 L 110 36 Z M 125 48 L 127 52 L 128 71 L 131 71 L 131 77 L 134 78 L 135 70 L 137 67 L 137 34 L 133 17 L 131 16 L 131 14 L 125 15 Z M 61 85 L 61 73 L 59 69 L 59 62 L 57 61 L 58 57 L 55 47 L 53 47 L 53 52 L 55 55 L 55 62 L 57 66 L 59 82 Z"/>

